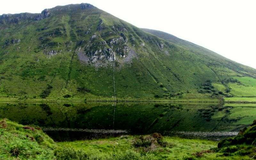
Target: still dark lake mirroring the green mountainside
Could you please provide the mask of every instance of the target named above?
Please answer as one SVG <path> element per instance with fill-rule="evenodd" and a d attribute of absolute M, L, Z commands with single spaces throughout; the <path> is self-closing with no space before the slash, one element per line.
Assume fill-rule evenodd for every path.
<path fill-rule="evenodd" d="M 38 125 L 57 141 L 154 132 L 219 140 L 251 124 L 256 115 L 246 112 L 255 111 L 256 107 L 248 110 L 217 103 L 0 104 L 0 118 Z"/>

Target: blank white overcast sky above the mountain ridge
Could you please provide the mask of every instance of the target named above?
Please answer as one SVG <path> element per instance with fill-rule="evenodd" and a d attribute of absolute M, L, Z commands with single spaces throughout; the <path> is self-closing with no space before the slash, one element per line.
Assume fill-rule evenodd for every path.
<path fill-rule="evenodd" d="M 256 0 L 11 0 L 1 2 L 0 15 L 80 3 L 256 68 Z"/>

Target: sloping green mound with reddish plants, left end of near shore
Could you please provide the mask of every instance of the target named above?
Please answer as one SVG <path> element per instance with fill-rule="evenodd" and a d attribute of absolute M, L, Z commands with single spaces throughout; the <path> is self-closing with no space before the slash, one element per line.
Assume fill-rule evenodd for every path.
<path fill-rule="evenodd" d="M 0 120 L 0 159 L 54 159 L 57 145 L 40 128 Z"/>

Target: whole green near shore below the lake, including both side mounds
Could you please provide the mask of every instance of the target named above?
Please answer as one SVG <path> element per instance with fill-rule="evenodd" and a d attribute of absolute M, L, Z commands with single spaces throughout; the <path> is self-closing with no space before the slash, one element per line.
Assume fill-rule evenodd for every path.
<path fill-rule="evenodd" d="M 217 141 L 163 137 L 159 133 L 55 143 L 39 128 L 1 119 L 0 158 L 57 160 L 249 159 L 253 156 L 255 148 L 253 146 L 255 137 L 252 139 L 253 127 L 255 128 L 255 126 L 249 127 L 235 138 L 222 140 L 218 144 L 218 148 Z M 251 138 L 244 141 L 243 137 L 248 136 Z M 242 143 L 240 141 L 233 143 L 234 140 L 242 140 Z M 241 150 L 237 151 L 236 148 L 241 148 Z"/>

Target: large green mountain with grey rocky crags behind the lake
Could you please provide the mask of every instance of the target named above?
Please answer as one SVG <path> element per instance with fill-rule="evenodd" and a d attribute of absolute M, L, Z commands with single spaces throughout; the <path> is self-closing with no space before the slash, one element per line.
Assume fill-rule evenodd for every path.
<path fill-rule="evenodd" d="M 1 15 L 0 64 L 2 97 L 256 95 L 241 89 L 255 88 L 254 83 L 246 85 L 254 82 L 255 69 L 164 32 L 137 28 L 84 3 Z"/>

